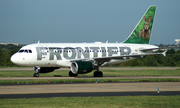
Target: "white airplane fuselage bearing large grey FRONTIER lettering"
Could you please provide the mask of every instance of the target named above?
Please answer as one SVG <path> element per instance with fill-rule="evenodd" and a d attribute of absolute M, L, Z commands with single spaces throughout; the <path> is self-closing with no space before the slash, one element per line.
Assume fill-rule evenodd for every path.
<path fill-rule="evenodd" d="M 22 66 L 70 67 L 72 61 L 122 56 L 122 59 L 110 59 L 102 64 L 108 65 L 127 61 L 123 56 L 141 55 L 144 53 L 142 49 L 151 48 L 158 47 L 125 43 L 37 43 L 22 47 L 11 61 Z"/>

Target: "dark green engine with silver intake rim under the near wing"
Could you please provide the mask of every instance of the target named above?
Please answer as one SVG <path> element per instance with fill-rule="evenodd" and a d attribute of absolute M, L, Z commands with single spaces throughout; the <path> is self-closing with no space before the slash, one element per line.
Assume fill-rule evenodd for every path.
<path fill-rule="evenodd" d="M 94 69 L 92 62 L 76 61 L 71 64 L 71 72 L 74 74 L 89 73 Z"/>

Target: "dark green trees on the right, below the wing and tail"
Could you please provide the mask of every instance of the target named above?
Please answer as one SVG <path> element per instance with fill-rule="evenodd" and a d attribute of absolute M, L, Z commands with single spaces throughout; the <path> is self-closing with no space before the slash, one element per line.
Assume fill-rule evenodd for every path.
<path fill-rule="evenodd" d="M 175 51 L 171 48 L 167 50 L 166 56 L 148 55 L 111 66 L 180 66 L 180 50 Z"/>

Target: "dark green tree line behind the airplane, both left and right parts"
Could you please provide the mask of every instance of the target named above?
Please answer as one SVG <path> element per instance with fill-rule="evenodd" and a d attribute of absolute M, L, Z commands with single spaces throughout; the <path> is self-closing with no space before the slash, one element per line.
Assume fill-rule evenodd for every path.
<path fill-rule="evenodd" d="M 16 67 L 11 62 L 11 56 L 16 53 L 23 45 L 8 44 L 0 45 L 0 67 Z M 143 58 L 133 59 L 131 61 L 115 64 L 111 66 L 180 66 L 180 50 L 175 51 L 173 48 L 167 50 L 166 56 L 163 55 L 148 55 Z"/>

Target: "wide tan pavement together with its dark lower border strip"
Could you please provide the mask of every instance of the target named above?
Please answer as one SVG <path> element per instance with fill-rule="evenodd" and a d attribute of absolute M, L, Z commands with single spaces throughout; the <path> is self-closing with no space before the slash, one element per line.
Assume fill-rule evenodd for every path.
<path fill-rule="evenodd" d="M 37 96 L 39 95 L 40 97 L 42 97 L 42 94 L 44 94 L 44 97 L 54 95 L 68 96 L 67 94 L 73 94 L 74 96 L 81 96 L 83 94 L 86 94 L 87 96 L 98 96 L 100 94 L 103 96 L 112 96 L 114 93 L 117 93 L 118 95 L 152 95 L 152 93 L 157 93 L 157 88 L 159 88 L 160 93 L 169 91 L 171 94 L 177 93 L 177 95 L 179 95 L 179 85 L 180 82 L 8 85 L 0 86 L 0 97 L 25 96 L 24 98 L 30 98 L 33 94 L 37 94 Z"/>

